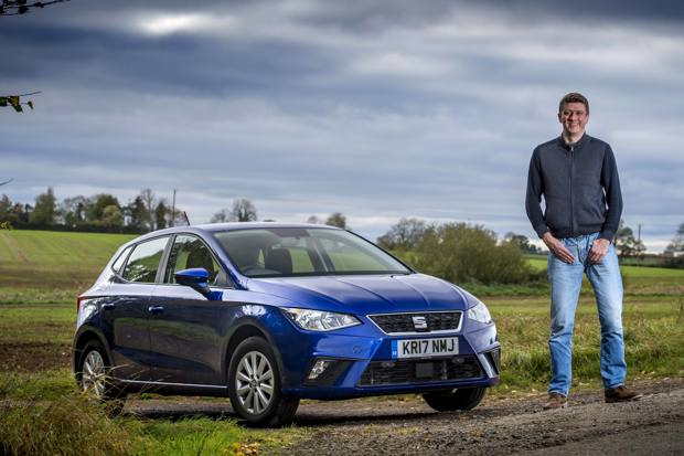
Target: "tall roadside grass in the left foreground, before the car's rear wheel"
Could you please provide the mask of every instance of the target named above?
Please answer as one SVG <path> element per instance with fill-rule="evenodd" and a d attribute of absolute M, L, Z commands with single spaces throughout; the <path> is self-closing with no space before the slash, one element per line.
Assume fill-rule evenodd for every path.
<path fill-rule="evenodd" d="M 247 443 L 276 450 L 306 435 L 296 427 L 252 430 L 227 416 L 111 418 L 75 391 L 67 370 L 0 373 L 3 456 L 232 456 Z"/>

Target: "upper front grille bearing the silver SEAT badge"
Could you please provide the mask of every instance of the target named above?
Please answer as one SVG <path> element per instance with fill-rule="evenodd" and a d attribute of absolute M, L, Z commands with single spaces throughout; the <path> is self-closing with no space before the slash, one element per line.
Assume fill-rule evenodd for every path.
<path fill-rule="evenodd" d="M 370 315 L 368 317 L 388 335 L 400 332 L 455 331 L 461 325 L 460 311 L 448 312 L 410 312 Z M 424 318 L 425 327 L 416 325 L 414 317 Z"/>

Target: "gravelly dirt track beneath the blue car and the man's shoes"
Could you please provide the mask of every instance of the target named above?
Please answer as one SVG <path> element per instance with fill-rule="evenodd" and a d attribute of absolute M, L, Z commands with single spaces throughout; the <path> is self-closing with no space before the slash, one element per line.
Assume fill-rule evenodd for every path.
<path fill-rule="evenodd" d="M 282 455 L 682 455 L 684 379 L 640 382 L 642 401 L 606 404 L 602 391 L 570 397 L 566 410 L 541 411 L 545 395 L 488 399 L 470 412 L 436 413 L 413 396 L 306 402 L 296 425 L 311 438 Z M 148 417 L 232 415 L 215 402 L 130 401 Z"/>

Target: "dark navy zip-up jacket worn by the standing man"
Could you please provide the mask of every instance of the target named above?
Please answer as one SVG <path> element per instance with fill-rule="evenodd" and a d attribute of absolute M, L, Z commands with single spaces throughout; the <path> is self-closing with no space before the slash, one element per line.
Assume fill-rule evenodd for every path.
<path fill-rule="evenodd" d="M 547 231 L 560 238 L 600 232 L 612 241 L 622 194 L 610 146 L 587 134 L 573 145 L 560 136 L 537 146 L 530 160 L 525 209 L 539 237 Z"/>

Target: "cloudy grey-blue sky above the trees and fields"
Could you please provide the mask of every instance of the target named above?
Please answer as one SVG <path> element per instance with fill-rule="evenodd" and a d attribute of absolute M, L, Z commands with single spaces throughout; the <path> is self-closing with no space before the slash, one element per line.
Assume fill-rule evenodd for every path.
<path fill-rule="evenodd" d="M 558 99 L 591 103 L 623 219 L 650 251 L 684 222 L 678 1 L 101 1 L 0 17 L 0 181 L 13 201 L 141 189 L 193 223 L 236 198 L 260 219 L 342 212 L 534 236 L 535 145 Z"/>

